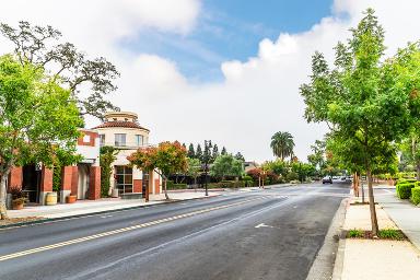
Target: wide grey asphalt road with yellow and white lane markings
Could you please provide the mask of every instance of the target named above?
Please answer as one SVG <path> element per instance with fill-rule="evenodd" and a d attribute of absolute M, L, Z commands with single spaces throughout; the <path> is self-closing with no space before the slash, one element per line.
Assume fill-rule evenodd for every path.
<path fill-rule="evenodd" d="M 346 184 L 0 230 L 0 279 L 305 279 Z"/>

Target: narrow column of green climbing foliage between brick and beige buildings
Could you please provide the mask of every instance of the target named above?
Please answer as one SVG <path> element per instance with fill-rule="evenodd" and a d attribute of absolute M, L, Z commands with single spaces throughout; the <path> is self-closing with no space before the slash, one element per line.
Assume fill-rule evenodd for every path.
<path fill-rule="evenodd" d="M 101 197 L 108 197 L 110 188 L 110 176 L 113 175 L 113 163 L 117 159 L 119 150 L 110 145 L 104 145 L 101 147 L 100 152 Z"/>

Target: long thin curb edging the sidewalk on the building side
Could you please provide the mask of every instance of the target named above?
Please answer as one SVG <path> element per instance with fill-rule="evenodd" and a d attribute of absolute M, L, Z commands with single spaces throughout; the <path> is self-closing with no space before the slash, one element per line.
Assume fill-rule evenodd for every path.
<path fill-rule="evenodd" d="M 115 213 L 115 212 L 120 212 L 120 211 L 127 211 L 127 210 L 133 210 L 133 209 L 140 209 L 140 208 L 149 208 L 149 207 L 162 206 L 162 205 L 168 205 L 168 203 L 180 203 L 180 202 L 188 201 L 188 200 L 209 199 L 209 198 L 213 198 L 213 197 L 218 197 L 218 196 L 220 196 L 220 194 L 215 195 L 215 196 L 211 196 L 211 197 L 187 198 L 187 199 L 163 201 L 163 202 L 153 203 L 153 205 L 142 205 L 142 206 L 131 206 L 131 207 L 126 207 L 126 208 L 119 208 L 119 209 L 109 209 L 109 210 L 103 210 L 103 211 L 96 211 L 96 212 L 83 213 L 83 214 L 74 214 L 74 215 L 66 215 L 66 217 L 57 217 L 57 218 L 45 218 L 45 219 L 35 220 L 35 221 L 3 224 L 3 225 L 0 225 L 0 230 L 7 230 L 7 229 L 13 229 L 13 228 L 20 228 L 20 226 L 33 225 L 33 224 L 42 224 L 42 223 L 48 223 L 48 222 L 66 221 L 66 220 L 72 220 L 72 219 L 90 217 L 90 215 Z"/>

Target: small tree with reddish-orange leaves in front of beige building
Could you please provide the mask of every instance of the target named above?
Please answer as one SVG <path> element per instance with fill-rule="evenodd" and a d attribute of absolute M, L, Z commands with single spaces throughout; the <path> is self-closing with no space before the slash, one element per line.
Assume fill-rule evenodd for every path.
<path fill-rule="evenodd" d="M 187 171 L 187 151 L 178 142 L 162 142 L 158 147 L 140 148 L 127 160 L 135 166 L 149 172 L 155 171 L 164 180 L 165 198 L 167 195 L 167 177 L 170 174 L 185 173 Z"/>

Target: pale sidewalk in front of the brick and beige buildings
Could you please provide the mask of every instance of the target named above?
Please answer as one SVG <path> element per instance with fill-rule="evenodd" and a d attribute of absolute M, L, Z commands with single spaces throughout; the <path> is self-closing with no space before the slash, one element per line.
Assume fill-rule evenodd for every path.
<path fill-rule="evenodd" d="M 184 191 L 168 194 L 172 200 L 188 200 L 205 198 L 203 191 Z M 209 197 L 219 196 L 218 192 L 209 192 Z M 97 212 L 120 210 L 141 206 L 152 206 L 165 203 L 165 196 L 158 195 L 151 196 L 150 201 L 145 202 L 144 199 L 101 199 L 101 200 L 80 200 L 75 203 L 63 203 L 56 206 L 35 206 L 25 207 L 23 210 L 9 210 L 9 218 L 27 218 L 40 217 L 46 219 L 66 218 L 81 214 L 93 214 Z"/>

